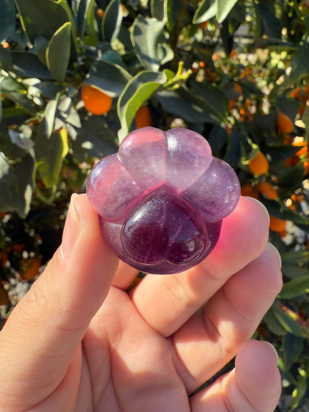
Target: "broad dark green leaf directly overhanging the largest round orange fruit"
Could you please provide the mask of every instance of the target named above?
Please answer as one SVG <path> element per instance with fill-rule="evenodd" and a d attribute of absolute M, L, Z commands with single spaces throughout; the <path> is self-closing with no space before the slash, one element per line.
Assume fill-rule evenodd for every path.
<path fill-rule="evenodd" d="M 83 84 L 91 84 L 106 93 L 108 96 L 120 96 L 131 75 L 121 66 L 108 61 L 94 62 Z"/>

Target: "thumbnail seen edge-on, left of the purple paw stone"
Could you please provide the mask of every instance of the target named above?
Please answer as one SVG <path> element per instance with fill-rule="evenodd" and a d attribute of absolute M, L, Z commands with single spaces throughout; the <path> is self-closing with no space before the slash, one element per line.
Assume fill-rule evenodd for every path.
<path fill-rule="evenodd" d="M 63 229 L 61 255 L 64 260 L 67 260 L 70 256 L 77 238 L 78 230 L 80 228 L 80 220 L 74 208 L 75 197 L 77 197 L 77 193 L 73 193 L 71 196 L 66 224 L 64 225 Z"/>

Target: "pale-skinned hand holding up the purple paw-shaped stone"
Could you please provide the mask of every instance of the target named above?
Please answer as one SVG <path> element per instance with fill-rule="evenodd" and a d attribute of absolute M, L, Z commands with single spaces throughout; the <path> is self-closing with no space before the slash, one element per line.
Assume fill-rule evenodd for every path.
<path fill-rule="evenodd" d="M 250 340 L 282 286 L 268 225 L 241 197 L 201 264 L 127 294 L 137 271 L 105 244 L 86 195 L 73 197 L 62 246 L 0 332 L 0 411 L 273 411 L 276 353 Z"/>

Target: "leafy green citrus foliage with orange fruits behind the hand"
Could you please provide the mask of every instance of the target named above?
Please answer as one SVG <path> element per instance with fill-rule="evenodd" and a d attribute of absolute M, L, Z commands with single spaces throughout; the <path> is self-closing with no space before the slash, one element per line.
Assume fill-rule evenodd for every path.
<path fill-rule="evenodd" d="M 95 162 L 137 127 L 186 127 L 271 215 L 284 286 L 253 337 L 279 353 L 277 410 L 308 411 L 309 1 L 0 0 L 0 10 L 1 324 L 61 243 Z"/>

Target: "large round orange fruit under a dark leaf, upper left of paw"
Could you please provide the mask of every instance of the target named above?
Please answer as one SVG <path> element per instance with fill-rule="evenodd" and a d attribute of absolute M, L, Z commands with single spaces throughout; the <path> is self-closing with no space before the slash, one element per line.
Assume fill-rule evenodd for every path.
<path fill-rule="evenodd" d="M 112 107 L 112 98 L 89 84 L 82 87 L 82 100 L 86 110 L 94 115 L 104 115 Z"/>

